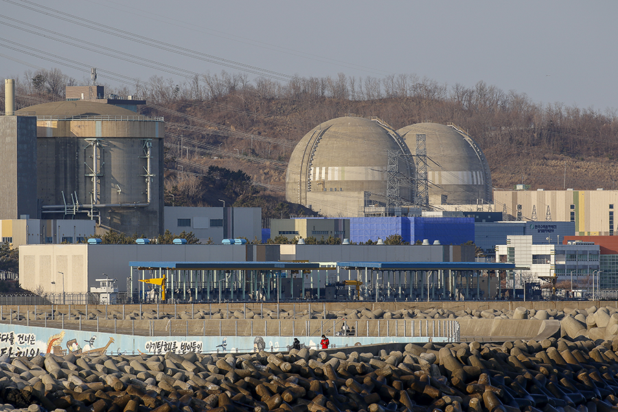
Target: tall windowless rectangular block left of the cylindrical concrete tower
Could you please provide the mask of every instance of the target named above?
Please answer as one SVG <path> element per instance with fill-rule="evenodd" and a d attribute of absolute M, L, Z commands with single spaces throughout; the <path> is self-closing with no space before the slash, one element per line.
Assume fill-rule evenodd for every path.
<path fill-rule="evenodd" d="M 37 217 L 36 117 L 0 117 L 0 219 Z"/>

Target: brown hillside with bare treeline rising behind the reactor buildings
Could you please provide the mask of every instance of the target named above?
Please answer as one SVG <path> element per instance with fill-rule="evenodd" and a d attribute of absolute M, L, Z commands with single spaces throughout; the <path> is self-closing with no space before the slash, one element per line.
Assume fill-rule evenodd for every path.
<path fill-rule="evenodd" d="M 43 78 L 52 78 L 50 73 L 41 71 Z M 280 84 L 225 72 L 173 88 L 155 80 L 139 84 L 139 91 L 106 87 L 106 93 L 139 96 L 148 102 L 141 114 L 165 117 L 167 205 L 230 205 L 240 199 L 238 205 L 266 205 L 265 217 L 310 214 L 282 202 L 288 159 L 314 126 L 349 113 L 380 117 L 395 129 L 419 122 L 456 124 L 485 153 L 497 189 L 518 183 L 532 190 L 618 186 L 616 113 L 537 104 L 525 93 L 484 82 L 447 87 L 414 75 L 355 79 L 342 73 Z M 64 99 L 51 87 L 37 89 L 29 82 L 18 81 L 16 89 L 21 107 Z M 209 175 L 211 166 L 240 170 L 249 185 L 217 183 L 220 176 Z"/>

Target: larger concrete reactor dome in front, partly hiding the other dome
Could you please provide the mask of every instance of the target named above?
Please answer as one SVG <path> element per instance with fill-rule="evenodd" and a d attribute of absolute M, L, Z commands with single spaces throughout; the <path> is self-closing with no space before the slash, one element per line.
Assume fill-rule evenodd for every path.
<path fill-rule="evenodd" d="M 403 139 L 380 119 L 338 117 L 316 126 L 297 144 L 288 163 L 286 200 L 323 216 L 364 216 L 365 207 L 385 207 L 390 168 L 413 176 Z M 409 202 L 413 190 L 398 187 Z"/>

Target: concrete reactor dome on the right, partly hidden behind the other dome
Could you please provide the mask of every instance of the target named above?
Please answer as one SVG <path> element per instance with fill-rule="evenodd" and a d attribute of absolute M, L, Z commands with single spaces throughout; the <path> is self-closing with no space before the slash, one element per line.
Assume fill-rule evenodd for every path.
<path fill-rule="evenodd" d="M 430 205 L 473 205 L 492 202 L 492 177 L 485 155 L 453 124 L 418 123 L 398 133 L 411 152 L 416 135 L 426 136 Z"/>

